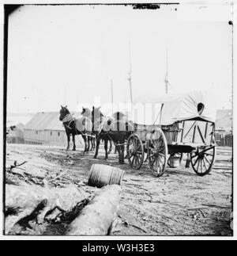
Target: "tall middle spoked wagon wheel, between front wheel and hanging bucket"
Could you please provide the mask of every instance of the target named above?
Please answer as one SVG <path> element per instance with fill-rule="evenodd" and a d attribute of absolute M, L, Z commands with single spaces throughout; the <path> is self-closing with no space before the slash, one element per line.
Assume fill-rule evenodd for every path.
<path fill-rule="evenodd" d="M 149 140 L 149 166 L 152 173 L 156 177 L 161 177 L 164 174 L 167 165 L 167 140 L 164 132 L 159 128 L 159 136 L 157 139 Z"/>

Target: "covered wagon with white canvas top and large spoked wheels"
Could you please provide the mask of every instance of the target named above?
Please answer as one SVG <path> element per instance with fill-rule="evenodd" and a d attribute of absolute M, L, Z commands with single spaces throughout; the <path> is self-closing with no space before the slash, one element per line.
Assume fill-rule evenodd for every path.
<path fill-rule="evenodd" d="M 206 94 L 193 92 L 166 97 L 158 103 L 159 124 L 134 124 L 126 146 L 130 166 L 140 169 L 148 161 L 152 173 L 160 177 L 167 165 L 179 166 L 186 153 L 186 164 L 191 163 L 196 174 L 209 174 L 215 161 L 216 143 L 214 111 L 209 108 Z"/>

